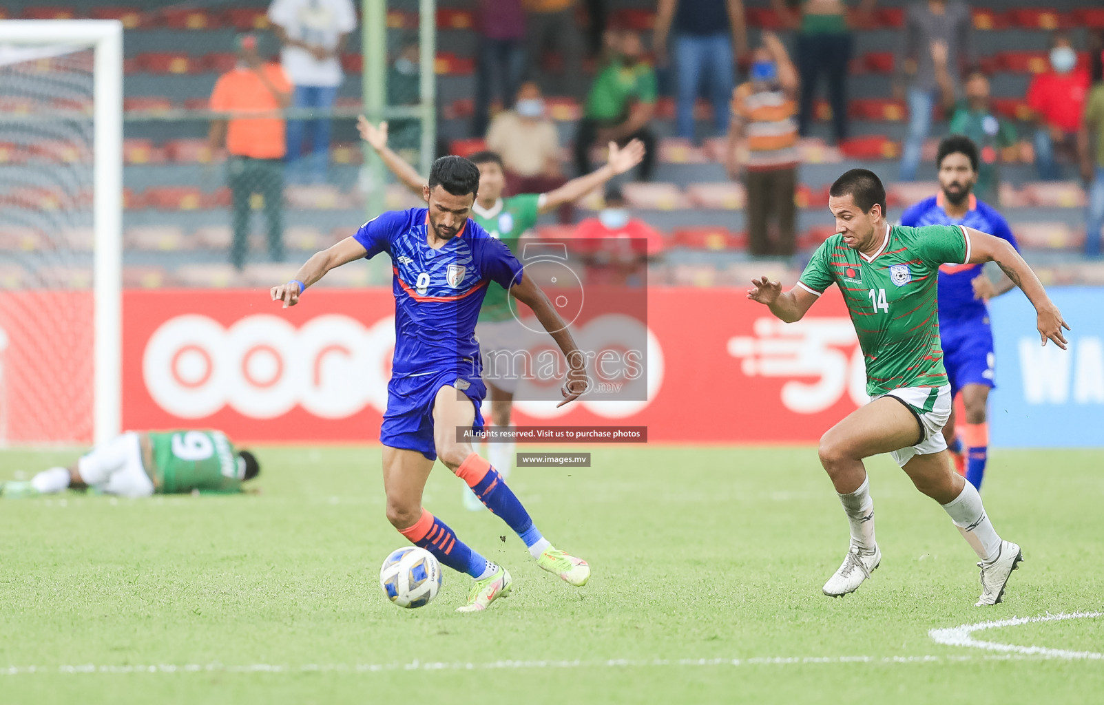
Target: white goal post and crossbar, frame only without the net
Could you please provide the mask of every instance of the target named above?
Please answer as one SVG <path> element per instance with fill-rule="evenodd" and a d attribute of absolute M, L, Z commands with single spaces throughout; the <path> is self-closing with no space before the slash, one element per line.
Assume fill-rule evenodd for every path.
<path fill-rule="evenodd" d="M 123 407 L 123 23 L 2 20 L 4 44 L 94 49 L 93 440 L 100 444 L 118 435 Z"/>

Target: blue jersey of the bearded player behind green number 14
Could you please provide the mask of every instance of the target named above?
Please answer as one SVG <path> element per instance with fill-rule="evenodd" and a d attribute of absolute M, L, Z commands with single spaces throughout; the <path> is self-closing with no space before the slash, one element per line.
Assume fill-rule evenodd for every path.
<path fill-rule="evenodd" d="M 1008 221 L 988 203 L 969 196 L 969 211 L 960 218 L 947 215 L 943 193 L 925 199 L 901 215 L 901 225 L 964 225 L 995 237 L 1007 239 L 1019 249 Z M 985 318 L 985 301 L 974 296 L 974 279 L 981 276 L 981 265 L 943 265 L 940 267 L 940 320 L 975 320 Z"/>

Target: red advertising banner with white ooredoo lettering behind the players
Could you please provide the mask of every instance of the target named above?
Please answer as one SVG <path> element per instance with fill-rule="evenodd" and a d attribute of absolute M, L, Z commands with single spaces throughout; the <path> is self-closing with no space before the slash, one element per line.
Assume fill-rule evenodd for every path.
<path fill-rule="evenodd" d="M 126 428 L 216 427 L 240 441 L 379 438 L 394 345 L 388 289 L 127 291 Z M 740 289 L 648 291 L 649 398 L 519 402 L 514 424 L 647 426 L 648 440 L 814 441 L 866 400 L 832 289 L 797 323 Z"/>

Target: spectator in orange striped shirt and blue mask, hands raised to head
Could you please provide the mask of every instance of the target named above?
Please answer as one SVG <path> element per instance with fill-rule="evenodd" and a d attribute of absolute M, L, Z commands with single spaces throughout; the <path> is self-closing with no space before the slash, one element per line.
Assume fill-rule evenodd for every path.
<path fill-rule="evenodd" d="M 729 175 L 742 177 L 747 190 L 753 255 L 794 254 L 798 85 L 786 47 L 773 32 L 764 32 L 763 45 L 752 55 L 751 81 L 732 94 L 725 160 Z"/>

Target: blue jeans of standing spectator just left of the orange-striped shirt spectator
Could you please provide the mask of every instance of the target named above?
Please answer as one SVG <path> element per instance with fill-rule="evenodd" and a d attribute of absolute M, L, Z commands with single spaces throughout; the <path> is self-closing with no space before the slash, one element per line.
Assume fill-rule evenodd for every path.
<path fill-rule="evenodd" d="M 702 74 L 709 75 L 709 99 L 713 104 L 716 135 L 729 130 L 729 102 L 735 82 L 732 66 L 732 39 L 718 34 L 680 34 L 675 41 L 675 63 L 678 67 L 679 137 L 694 138 L 693 104 L 701 87 Z"/>

